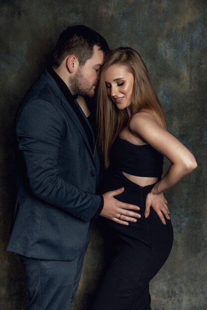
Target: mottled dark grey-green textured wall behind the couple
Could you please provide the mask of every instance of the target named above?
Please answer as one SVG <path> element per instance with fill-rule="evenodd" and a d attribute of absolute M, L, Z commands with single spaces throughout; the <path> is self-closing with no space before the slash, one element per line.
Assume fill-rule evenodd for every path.
<path fill-rule="evenodd" d="M 150 289 L 153 310 L 207 310 L 207 1 L 1 0 L 0 11 L 0 310 L 23 310 L 27 301 L 22 266 L 5 252 L 13 204 L 14 114 L 58 35 L 72 24 L 94 28 L 112 48 L 140 52 L 169 130 L 198 160 L 198 168 L 167 193 L 175 242 Z M 94 224 L 90 235 L 71 310 L 90 309 L 102 270 L 103 242 Z"/>

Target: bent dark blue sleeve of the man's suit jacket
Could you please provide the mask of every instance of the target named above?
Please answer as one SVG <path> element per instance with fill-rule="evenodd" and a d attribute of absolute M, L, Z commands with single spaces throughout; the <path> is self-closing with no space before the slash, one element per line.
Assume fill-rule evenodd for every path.
<path fill-rule="evenodd" d="M 33 194 L 89 221 L 99 209 L 101 197 L 81 191 L 59 176 L 62 126 L 57 109 L 49 101 L 38 99 L 27 103 L 16 120 L 18 148 L 23 154 Z"/>

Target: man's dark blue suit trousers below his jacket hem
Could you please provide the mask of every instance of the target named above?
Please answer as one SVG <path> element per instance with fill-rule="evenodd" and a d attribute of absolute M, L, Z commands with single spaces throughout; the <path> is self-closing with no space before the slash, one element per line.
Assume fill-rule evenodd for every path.
<path fill-rule="evenodd" d="M 80 279 L 88 242 L 80 254 L 70 261 L 28 258 L 24 263 L 29 305 L 26 310 L 69 310 Z"/>

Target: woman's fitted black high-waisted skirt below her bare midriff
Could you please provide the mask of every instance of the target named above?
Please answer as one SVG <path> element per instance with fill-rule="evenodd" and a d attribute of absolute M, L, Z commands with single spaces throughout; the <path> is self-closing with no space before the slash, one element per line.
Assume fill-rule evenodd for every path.
<path fill-rule="evenodd" d="M 129 222 L 129 226 L 100 219 L 109 248 L 109 263 L 92 310 L 151 310 L 149 281 L 172 248 L 171 221 L 166 219 L 166 225 L 162 224 L 152 208 L 148 218 L 144 217 L 146 195 L 153 185 L 140 187 L 120 171 L 110 176 L 104 189 L 122 186 L 125 191 L 116 198 L 138 205 L 141 218 L 136 223 Z"/>

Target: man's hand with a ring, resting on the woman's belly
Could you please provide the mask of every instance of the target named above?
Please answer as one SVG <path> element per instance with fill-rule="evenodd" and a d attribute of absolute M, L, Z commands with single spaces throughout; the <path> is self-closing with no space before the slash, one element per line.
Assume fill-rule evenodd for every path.
<path fill-rule="evenodd" d="M 123 203 L 114 198 L 114 196 L 117 196 L 123 192 L 124 187 L 103 194 L 104 207 L 100 215 L 111 219 L 116 223 L 122 225 L 129 225 L 128 222 L 137 222 L 137 218 L 141 217 L 141 215 L 137 212 L 133 212 L 130 210 L 140 210 L 140 208 L 135 205 Z"/>

